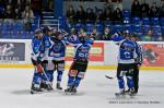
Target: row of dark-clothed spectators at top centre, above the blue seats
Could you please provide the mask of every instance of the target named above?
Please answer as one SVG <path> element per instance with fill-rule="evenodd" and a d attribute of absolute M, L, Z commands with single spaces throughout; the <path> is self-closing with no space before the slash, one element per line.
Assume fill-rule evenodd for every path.
<path fill-rule="evenodd" d="M 75 11 L 73 5 L 70 5 L 67 11 L 69 23 L 93 23 L 99 21 L 122 21 L 122 3 L 117 0 L 114 4 L 110 0 L 104 4 L 104 9 L 87 8 L 84 10 L 83 5 L 79 5 Z"/>

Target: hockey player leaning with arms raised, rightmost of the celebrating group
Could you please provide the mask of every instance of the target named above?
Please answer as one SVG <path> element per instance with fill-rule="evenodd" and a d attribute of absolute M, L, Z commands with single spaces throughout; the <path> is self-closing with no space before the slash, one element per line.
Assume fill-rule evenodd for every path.
<path fill-rule="evenodd" d="M 73 43 L 75 53 L 73 62 L 68 74 L 68 84 L 66 93 L 75 94 L 82 79 L 87 69 L 90 49 L 93 45 L 93 38 L 87 38 L 86 32 L 82 32 L 78 39 Z"/>

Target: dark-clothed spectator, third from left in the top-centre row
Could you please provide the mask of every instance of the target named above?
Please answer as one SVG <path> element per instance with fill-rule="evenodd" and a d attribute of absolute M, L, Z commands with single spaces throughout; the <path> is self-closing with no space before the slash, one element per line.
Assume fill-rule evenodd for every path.
<path fill-rule="evenodd" d="M 95 14 L 91 8 L 86 9 L 86 23 L 95 22 Z"/>

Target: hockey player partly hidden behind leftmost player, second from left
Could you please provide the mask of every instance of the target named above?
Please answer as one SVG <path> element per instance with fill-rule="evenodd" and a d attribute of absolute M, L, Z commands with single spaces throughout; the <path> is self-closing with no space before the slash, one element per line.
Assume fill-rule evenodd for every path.
<path fill-rule="evenodd" d="M 43 49 L 40 51 L 39 58 L 42 59 L 42 67 L 45 71 L 45 74 L 43 75 L 43 81 L 40 84 L 40 87 L 47 91 L 52 91 L 52 75 L 54 75 L 54 63 L 51 62 L 51 59 L 49 58 L 49 48 L 52 45 L 52 41 L 50 40 L 54 29 L 50 26 L 46 26 L 43 28 Z"/>

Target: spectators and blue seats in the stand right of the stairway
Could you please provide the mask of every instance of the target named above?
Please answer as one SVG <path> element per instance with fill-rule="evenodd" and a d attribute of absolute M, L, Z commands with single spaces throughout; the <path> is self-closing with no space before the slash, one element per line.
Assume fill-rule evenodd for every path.
<path fill-rule="evenodd" d="M 109 40 L 109 36 L 116 32 L 129 31 L 137 35 L 139 40 L 164 40 L 164 1 L 159 7 L 154 1 L 151 5 L 143 0 L 133 0 L 131 10 L 124 10 L 122 2 L 116 0 L 105 0 L 104 9 L 87 8 L 79 5 L 74 10 L 70 5 L 67 10 L 66 17 L 71 27 L 85 27 L 89 34 L 97 31 L 98 40 Z M 87 26 L 89 25 L 89 26 Z M 101 26 L 103 25 L 103 26 Z M 90 27 L 94 26 L 93 29 Z M 106 35 L 106 34 L 109 35 Z"/>

